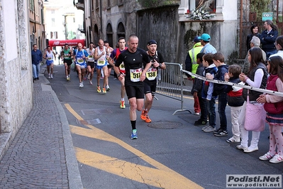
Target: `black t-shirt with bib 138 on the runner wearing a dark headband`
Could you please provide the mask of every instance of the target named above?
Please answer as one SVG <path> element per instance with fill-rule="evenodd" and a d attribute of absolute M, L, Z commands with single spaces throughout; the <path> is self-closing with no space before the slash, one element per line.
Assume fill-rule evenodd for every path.
<path fill-rule="evenodd" d="M 156 60 L 157 63 L 164 63 L 164 59 L 162 57 L 162 54 L 160 52 L 157 52 L 155 55 L 148 55 L 148 57 L 150 58 L 150 60 Z M 145 63 L 144 63 L 144 67 L 145 67 Z M 152 65 L 150 66 L 150 69 L 148 69 L 148 72 L 146 73 L 146 78 L 145 78 L 145 82 L 147 83 L 156 83 L 157 80 L 157 72 L 158 72 L 158 67 L 154 68 Z"/>

